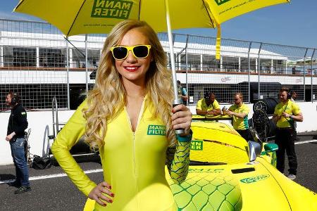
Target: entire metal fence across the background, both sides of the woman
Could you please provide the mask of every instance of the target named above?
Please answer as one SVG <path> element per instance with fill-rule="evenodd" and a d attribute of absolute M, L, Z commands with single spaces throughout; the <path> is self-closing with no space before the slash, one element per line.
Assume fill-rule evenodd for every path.
<path fill-rule="evenodd" d="M 167 34 L 158 35 L 170 61 Z M 18 91 L 29 109 L 51 108 L 54 96 L 58 108 L 76 108 L 93 87 L 105 38 L 67 38 L 49 23 L 0 20 L 0 110 L 7 108 L 9 90 Z M 206 91 L 226 103 L 241 91 L 244 101 L 252 103 L 276 98 L 281 87 L 296 91 L 298 101 L 317 99 L 316 49 L 222 39 L 216 60 L 214 37 L 173 34 L 173 41 L 178 79 L 187 88 L 189 105 Z"/>

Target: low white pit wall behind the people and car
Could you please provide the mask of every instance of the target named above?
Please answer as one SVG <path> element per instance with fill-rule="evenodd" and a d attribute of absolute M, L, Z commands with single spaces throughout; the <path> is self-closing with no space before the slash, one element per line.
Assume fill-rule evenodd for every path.
<path fill-rule="evenodd" d="M 304 115 L 304 122 L 297 123 L 297 132 L 317 131 L 317 102 L 298 102 L 299 107 Z M 230 105 L 220 104 L 220 108 Z M 253 104 L 247 104 L 250 108 L 249 118 L 253 115 Z M 193 114 L 196 114 L 196 106 L 189 106 Z M 58 122 L 67 122 L 73 115 L 74 110 L 59 110 Z M 11 157 L 10 144 L 6 141 L 6 128 L 8 125 L 8 117 L 10 113 L 0 113 L 0 165 L 13 164 Z M 53 134 L 52 127 L 52 112 L 51 111 L 35 111 L 27 113 L 27 120 L 31 134 L 29 137 L 30 153 L 33 155 L 46 155 L 51 146 L 52 140 L 48 139 L 49 135 Z M 223 122 L 229 123 L 225 120 Z"/>

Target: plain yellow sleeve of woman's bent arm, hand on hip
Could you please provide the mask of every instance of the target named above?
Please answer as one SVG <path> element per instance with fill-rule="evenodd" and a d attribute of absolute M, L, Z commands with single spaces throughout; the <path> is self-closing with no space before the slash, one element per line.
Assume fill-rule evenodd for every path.
<path fill-rule="evenodd" d="M 82 108 L 85 106 L 87 106 L 87 101 L 84 101 L 77 108 L 61 132 L 58 133 L 51 146 L 51 151 L 71 181 L 73 181 L 82 193 L 88 196 L 90 191 L 97 185 L 87 177 L 69 152 L 70 148 L 85 134 L 86 120 L 82 117 Z"/>

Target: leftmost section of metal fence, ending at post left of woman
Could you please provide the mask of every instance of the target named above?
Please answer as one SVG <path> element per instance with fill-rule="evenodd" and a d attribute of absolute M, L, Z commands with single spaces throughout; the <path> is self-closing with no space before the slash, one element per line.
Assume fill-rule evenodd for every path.
<path fill-rule="evenodd" d="M 30 109 L 67 107 L 66 40 L 47 23 L 0 20 L 0 109 L 9 90 Z"/>

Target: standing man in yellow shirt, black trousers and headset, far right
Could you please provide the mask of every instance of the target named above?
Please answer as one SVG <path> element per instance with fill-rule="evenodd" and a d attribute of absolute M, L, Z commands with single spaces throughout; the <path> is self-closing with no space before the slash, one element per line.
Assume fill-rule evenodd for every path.
<path fill-rule="evenodd" d="M 288 178 L 295 179 L 297 174 L 297 158 L 294 144 L 294 122 L 303 122 L 303 115 L 299 106 L 290 100 L 290 90 L 280 89 L 280 103 L 275 106 L 273 121 L 276 123 L 275 143 L 278 144 L 276 151 L 276 168 L 284 173 L 285 151 L 290 166 Z"/>

